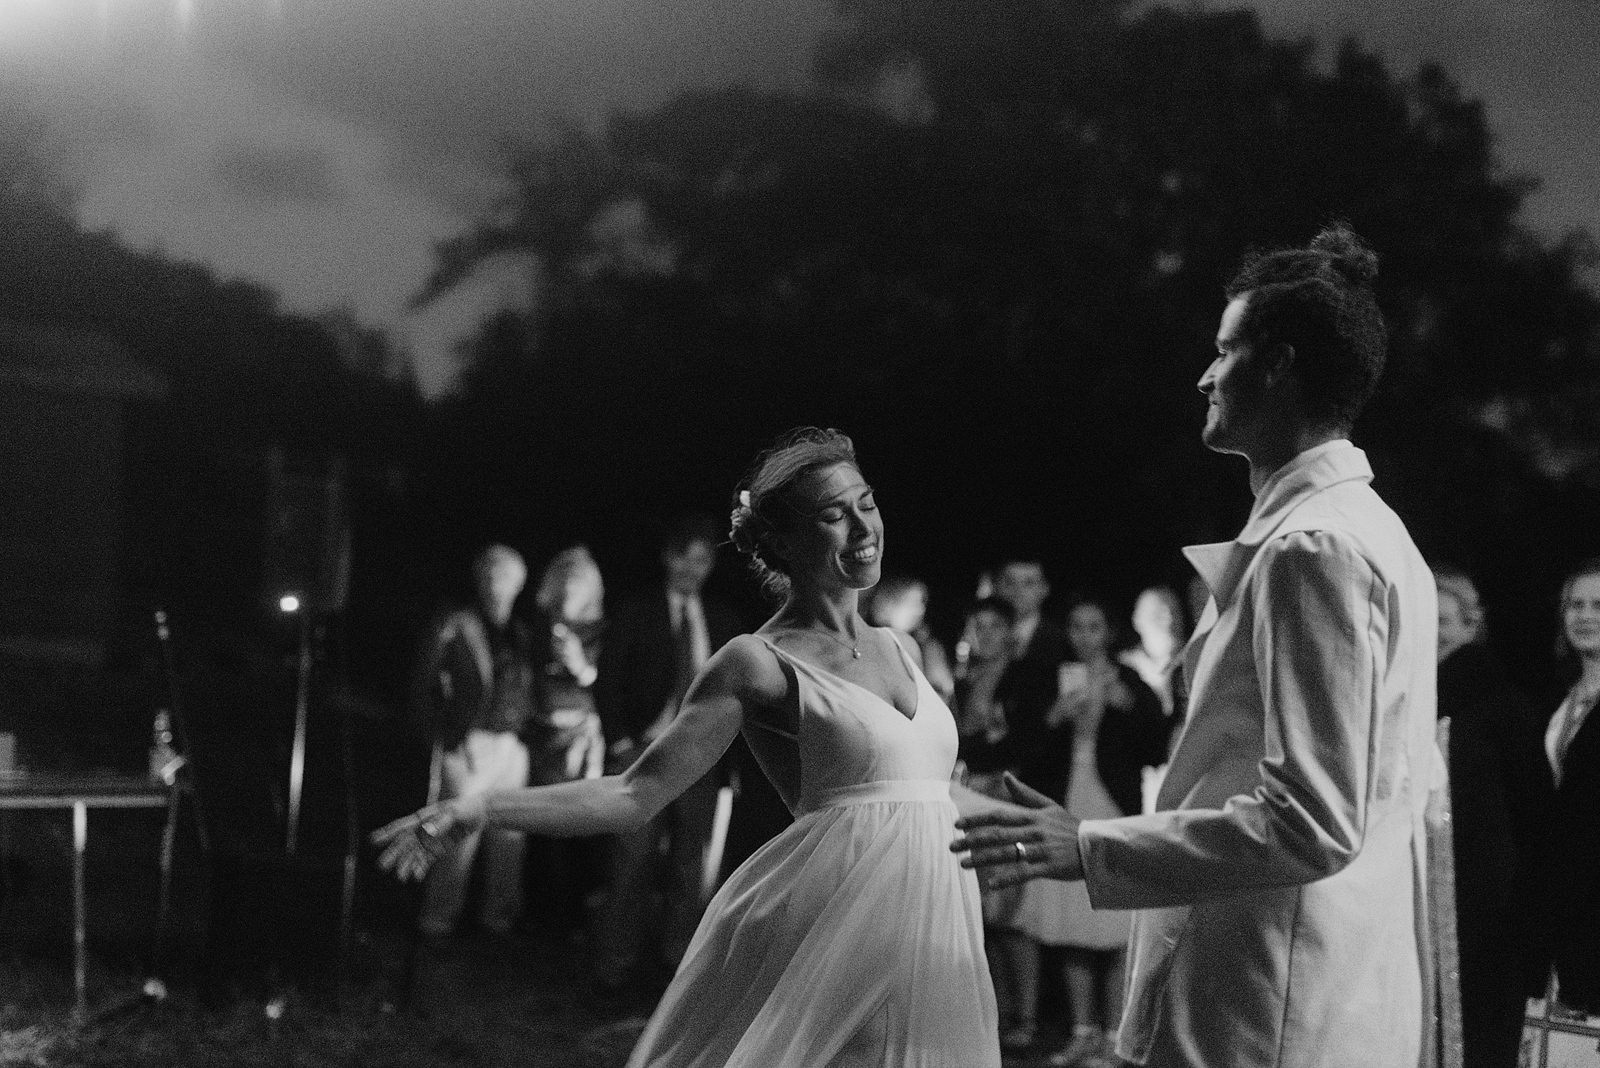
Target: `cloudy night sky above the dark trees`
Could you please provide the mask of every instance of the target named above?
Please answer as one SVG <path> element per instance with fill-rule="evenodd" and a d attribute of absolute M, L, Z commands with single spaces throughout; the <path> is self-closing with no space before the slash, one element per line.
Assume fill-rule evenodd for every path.
<path fill-rule="evenodd" d="M 1222 6 L 1208 3 L 1205 6 Z M 1594 0 L 1278 0 L 1278 35 L 1445 64 L 1536 174 L 1530 222 L 1600 233 Z M 350 305 L 414 357 L 526 289 L 514 269 L 406 312 L 496 189 L 496 142 L 694 85 L 805 85 L 826 0 L 0 0 L 0 82 L 51 123 L 83 221 Z"/>

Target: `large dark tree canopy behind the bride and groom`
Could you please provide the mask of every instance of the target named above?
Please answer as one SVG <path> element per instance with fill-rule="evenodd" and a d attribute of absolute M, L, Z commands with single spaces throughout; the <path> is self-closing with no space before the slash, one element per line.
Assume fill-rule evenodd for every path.
<path fill-rule="evenodd" d="M 1390 369 L 1358 436 L 1419 539 L 1485 566 L 1485 524 L 1600 484 L 1590 245 L 1520 222 L 1534 184 L 1445 70 L 1248 11 L 840 11 L 814 91 L 696 91 L 522 145 L 507 200 L 442 249 L 437 288 L 488 256 L 542 270 L 453 400 L 507 518 L 720 505 L 773 432 L 837 424 L 899 566 L 1035 544 L 1120 593 L 1232 534 L 1248 496 L 1200 449 L 1194 393 L 1222 286 L 1334 217 L 1382 256 Z M 1528 427 L 1554 481 L 1507 452 Z"/>

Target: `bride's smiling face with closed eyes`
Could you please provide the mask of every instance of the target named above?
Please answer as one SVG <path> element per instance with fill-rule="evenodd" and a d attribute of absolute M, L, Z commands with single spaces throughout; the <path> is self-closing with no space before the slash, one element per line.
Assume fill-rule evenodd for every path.
<path fill-rule="evenodd" d="M 883 516 L 853 464 L 802 476 L 786 504 L 781 534 L 790 576 L 821 588 L 870 590 L 883 574 Z"/>

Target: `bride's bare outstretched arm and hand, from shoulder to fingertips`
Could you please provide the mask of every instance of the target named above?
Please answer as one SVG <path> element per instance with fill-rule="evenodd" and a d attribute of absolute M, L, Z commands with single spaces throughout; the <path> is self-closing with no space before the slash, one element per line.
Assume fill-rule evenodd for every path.
<path fill-rule="evenodd" d="M 450 839 L 483 825 L 549 836 L 642 827 L 710 771 L 739 732 L 746 707 L 781 700 L 786 686 L 771 656 L 736 638 L 706 664 L 672 724 L 622 774 L 430 804 L 373 831 L 384 846 L 378 863 L 402 879 L 421 878 Z"/>

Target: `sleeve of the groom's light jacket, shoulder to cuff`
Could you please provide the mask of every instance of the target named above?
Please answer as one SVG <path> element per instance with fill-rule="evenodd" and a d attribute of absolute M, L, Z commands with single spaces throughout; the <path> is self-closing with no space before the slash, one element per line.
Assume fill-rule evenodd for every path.
<path fill-rule="evenodd" d="M 1190 905 L 1314 883 L 1362 849 L 1374 779 L 1387 587 L 1349 539 L 1293 532 L 1261 548 L 1250 640 L 1264 758 L 1250 793 L 1078 828 L 1096 908 Z M 1240 640 L 1243 635 L 1240 635 Z"/>

